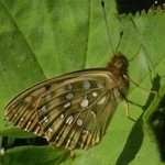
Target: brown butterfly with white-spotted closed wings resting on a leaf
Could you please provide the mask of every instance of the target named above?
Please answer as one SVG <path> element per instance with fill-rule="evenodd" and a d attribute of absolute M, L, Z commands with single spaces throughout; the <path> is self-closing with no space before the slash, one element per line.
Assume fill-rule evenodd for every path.
<path fill-rule="evenodd" d="M 40 82 L 4 110 L 14 125 L 66 148 L 89 148 L 106 133 L 129 90 L 128 59 L 116 53 L 105 68 L 84 69 Z"/>

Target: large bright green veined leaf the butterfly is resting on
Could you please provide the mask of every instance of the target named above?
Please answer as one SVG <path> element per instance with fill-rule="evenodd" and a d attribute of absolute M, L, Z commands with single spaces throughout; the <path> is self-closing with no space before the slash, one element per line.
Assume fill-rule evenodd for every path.
<path fill-rule="evenodd" d="M 155 73 L 164 75 L 165 15 L 157 11 L 155 14 L 142 13 L 134 18 L 118 16 L 114 10 L 113 2 L 106 1 L 112 45 L 116 50 L 120 32 L 123 31 L 118 51 L 128 59 L 135 57 L 130 62 L 130 78 L 150 91 L 151 76 L 154 77 Z M 99 0 L 0 1 L 1 135 L 22 135 L 12 124 L 3 121 L 6 103 L 21 90 L 53 76 L 106 66 L 113 52 L 103 18 Z M 152 63 L 147 63 L 146 57 L 150 57 Z M 153 65 L 148 70 L 151 64 Z M 161 85 L 164 84 L 163 78 L 158 80 Z M 147 103 L 144 109 L 147 110 L 152 100 L 147 100 L 150 92 L 141 87 L 131 84 L 128 98 L 142 106 Z M 125 117 L 124 105 L 125 102 L 119 105 L 99 145 L 88 151 L 74 151 L 73 161 L 62 156 L 62 164 L 158 164 L 156 146 L 147 132 L 143 131 L 143 109 L 130 105 L 130 116 L 136 121 L 134 122 Z M 56 156 L 54 157 L 52 152 L 58 153 L 59 150 L 48 148 L 50 146 L 45 150 L 41 147 L 41 154 L 47 155 L 48 151 L 50 164 L 56 164 Z M 31 154 L 32 150 L 33 147 L 11 148 L 4 153 L 1 161 L 3 164 L 10 162 L 10 165 L 36 165 L 42 164 L 42 161 L 48 164 L 40 154 Z M 34 153 L 35 150 L 40 153 L 40 147 L 34 146 Z M 24 162 L 22 153 L 34 162 Z"/>

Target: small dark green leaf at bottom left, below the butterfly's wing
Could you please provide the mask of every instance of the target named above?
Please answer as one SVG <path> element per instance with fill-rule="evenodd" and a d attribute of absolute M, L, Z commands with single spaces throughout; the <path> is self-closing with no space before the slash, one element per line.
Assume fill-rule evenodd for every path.
<path fill-rule="evenodd" d="M 69 157 L 69 152 L 52 146 L 24 146 L 8 150 L 0 163 L 8 165 L 58 165 Z"/>

